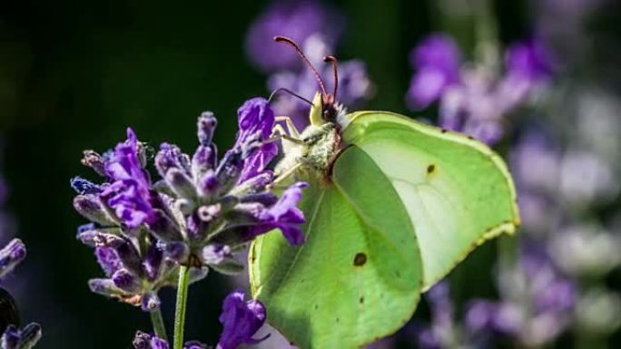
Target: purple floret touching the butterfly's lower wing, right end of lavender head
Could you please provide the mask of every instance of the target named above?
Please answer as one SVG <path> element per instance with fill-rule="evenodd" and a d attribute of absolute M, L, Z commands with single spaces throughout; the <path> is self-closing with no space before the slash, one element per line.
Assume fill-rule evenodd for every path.
<path fill-rule="evenodd" d="M 302 189 L 307 187 L 308 183 L 297 182 L 286 189 L 281 199 L 271 208 L 261 210 L 256 217 L 258 224 L 251 229 L 251 237 L 257 237 L 272 229 L 281 229 L 292 246 L 304 244 L 304 232 L 300 226 L 306 219 L 298 204 L 302 199 Z"/>

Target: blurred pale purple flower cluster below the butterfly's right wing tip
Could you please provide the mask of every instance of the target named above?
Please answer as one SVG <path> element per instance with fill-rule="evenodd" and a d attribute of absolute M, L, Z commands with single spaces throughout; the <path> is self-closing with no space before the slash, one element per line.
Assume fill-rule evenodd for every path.
<path fill-rule="evenodd" d="M 517 267 L 502 269 L 500 300 L 474 300 L 466 325 L 473 334 L 503 334 L 525 345 L 547 344 L 562 334 L 577 302 L 574 282 L 561 276 L 545 249 L 525 244 Z"/>

